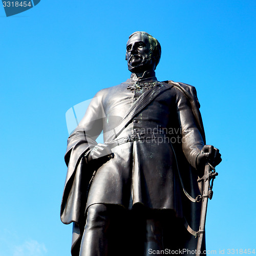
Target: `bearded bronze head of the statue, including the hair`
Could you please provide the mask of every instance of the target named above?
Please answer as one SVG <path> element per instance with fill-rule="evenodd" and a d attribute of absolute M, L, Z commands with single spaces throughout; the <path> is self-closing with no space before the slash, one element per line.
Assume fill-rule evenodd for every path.
<path fill-rule="evenodd" d="M 155 70 L 161 57 L 161 46 L 152 35 L 137 31 L 126 44 L 128 69 L 133 73 Z"/>

